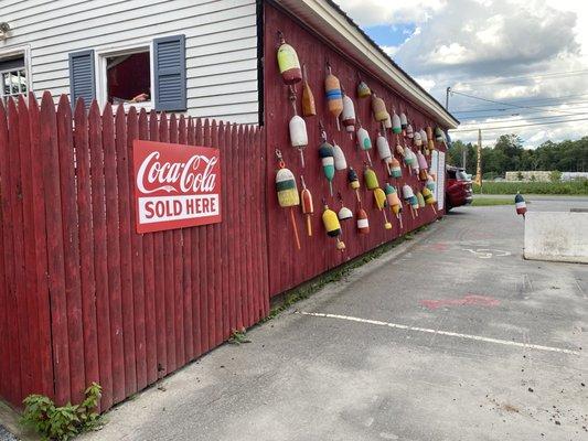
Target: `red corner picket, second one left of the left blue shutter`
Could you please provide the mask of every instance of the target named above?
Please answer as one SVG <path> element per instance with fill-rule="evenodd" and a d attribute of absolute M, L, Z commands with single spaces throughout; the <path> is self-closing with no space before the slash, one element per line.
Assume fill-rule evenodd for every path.
<path fill-rule="evenodd" d="M 53 363 L 55 373 L 55 400 L 65 404 L 71 399 L 70 354 L 67 334 L 67 299 L 63 249 L 63 219 L 60 189 L 60 155 L 55 105 L 49 92 L 41 101 L 41 144 L 43 146 L 43 182 L 46 204 L 46 235 L 49 259 L 49 290 L 51 295 L 51 324 Z"/>

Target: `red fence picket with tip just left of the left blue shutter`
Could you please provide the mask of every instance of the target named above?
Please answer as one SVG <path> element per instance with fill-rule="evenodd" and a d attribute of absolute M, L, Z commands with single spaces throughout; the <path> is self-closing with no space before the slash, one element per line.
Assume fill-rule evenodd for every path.
<path fill-rule="evenodd" d="M 65 293 L 67 298 L 67 332 L 70 338 L 70 369 L 72 400 L 81 402 L 86 389 L 84 367 L 84 326 L 82 316 L 82 286 L 79 278 L 79 232 L 76 203 L 74 139 L 72 106 L 65 95 L 57 107 L 57 137 L 63 212 L 63 244 L 65 262 Z"/>

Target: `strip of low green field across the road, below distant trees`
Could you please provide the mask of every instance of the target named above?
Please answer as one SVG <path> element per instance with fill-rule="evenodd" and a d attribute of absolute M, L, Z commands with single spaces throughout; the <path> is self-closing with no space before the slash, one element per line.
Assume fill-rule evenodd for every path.
<path fill-rule="evenodd" d="M 473 184 L 480 194 L 480 185 Z M 588 194 L 588 180 L 569 182 L 483 182 L 483 194 Z"/>

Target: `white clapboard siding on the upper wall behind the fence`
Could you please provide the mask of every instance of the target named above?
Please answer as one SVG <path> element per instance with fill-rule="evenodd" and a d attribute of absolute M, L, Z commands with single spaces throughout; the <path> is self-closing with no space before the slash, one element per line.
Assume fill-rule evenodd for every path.
<path fill-rule="evenodd" d="M 258 122 L 255 0 L 0 0 L 12 46 L 30 50 L 32 89 L 70 94 L 68 55 L 184 34 L 188 114 Z"/>

